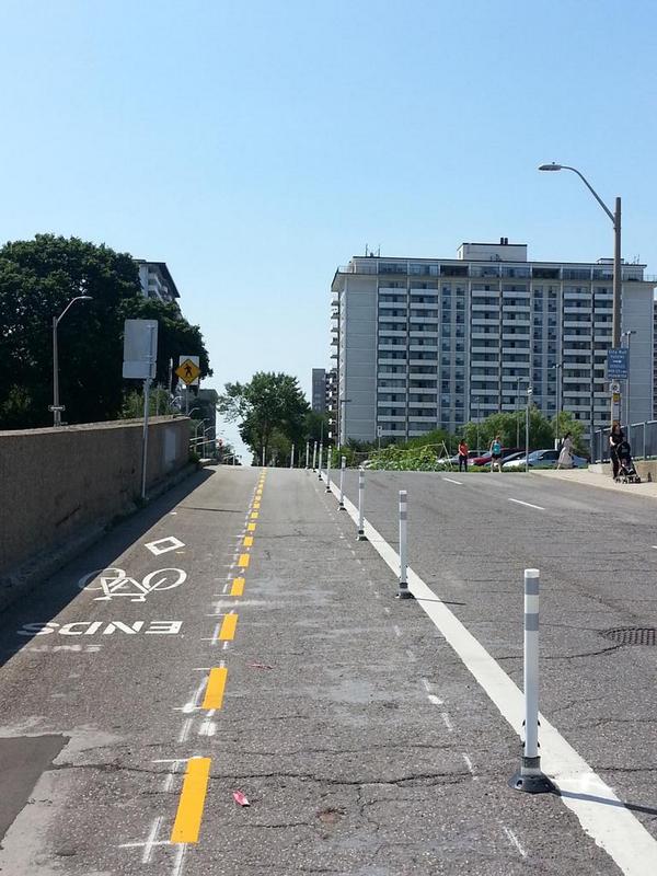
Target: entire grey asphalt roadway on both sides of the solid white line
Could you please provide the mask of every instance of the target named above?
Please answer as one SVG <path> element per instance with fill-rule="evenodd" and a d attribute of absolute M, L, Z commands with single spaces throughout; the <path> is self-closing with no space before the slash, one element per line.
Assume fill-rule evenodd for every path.
<path fill-rule="evenodd" d="M 411 565 L 516 681 L 541 569 L 542 711 L 655 832 L 655 649 L 600 635 L 657 626 L 652 504 L 494 477 L 368 473 L 367 517 L 394 545 L 407 488 Z M 0 872 L 620 873 L 507 786 L 517 735 L 395 592 L 311 472 L 205 472 L 117 527 L 0 621 Z"/>

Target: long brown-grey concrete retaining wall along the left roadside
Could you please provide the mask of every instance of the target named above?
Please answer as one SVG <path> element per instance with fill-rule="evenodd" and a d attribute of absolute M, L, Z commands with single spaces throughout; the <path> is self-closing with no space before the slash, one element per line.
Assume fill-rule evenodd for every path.
<path fill-rule="evenodd" d="M 189 420 L 153 417 L 147 487 L 187 462 Z M 0 431 L 0 575 L 141 494 L 141 420 Z"/>

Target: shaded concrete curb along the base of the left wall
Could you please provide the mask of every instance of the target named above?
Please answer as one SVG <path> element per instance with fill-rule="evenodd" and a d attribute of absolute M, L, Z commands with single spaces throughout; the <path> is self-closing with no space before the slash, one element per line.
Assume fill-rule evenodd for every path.
<path fill-rule="evenodd" d="M 198 471 L 198 468 L 195 463 L 187 463 L 187 465 L 171 475 L 171 477 L 154 484 L 149 491 L 148 504 L 159 498 L 164 493 L 168 493 L 174 486 L 177 486 L 177 484 L 196 471 Z M 148 504 L 145 507 L 148 507 Z M 19 599 L 19 597 L 28 593 L 43 580 L 49 578 L 62 566 L 66 566 L 67 563 L 70 563 L 72 560 L 83 554 L 84 551 L 88 551 L 93 544 L 101 541 L 114 526 L 122 523 L 140 510 L 142 510 L 141 507 L 131 503 L 123 514 L 116 515 L 110 520 L 102 520 L 97 523 L 84 527 L 84 529 L 77 532 L 64 544 L 56 545 L 43 553 L 36 554 L 16 568 L 10 569 L 4 575 L 0 576 L 0 610 L 5 609 L 9 604 Z"/>

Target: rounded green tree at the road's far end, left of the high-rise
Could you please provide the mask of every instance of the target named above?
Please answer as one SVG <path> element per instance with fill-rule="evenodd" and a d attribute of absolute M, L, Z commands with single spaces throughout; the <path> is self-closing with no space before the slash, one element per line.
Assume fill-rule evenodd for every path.
<path fill-rule="evenodd" d="M 288 446 L 301 447 L 308 410 L 297 378 L 273 371 L 258 371 L 249 383 L 227 383 L 218 402 L 218 411 L 229 422 L 240 420 L 240 436 L 257 463 L 264 449 L 269 456 L 273 442 L 281 452 L 281 438 Z"/>

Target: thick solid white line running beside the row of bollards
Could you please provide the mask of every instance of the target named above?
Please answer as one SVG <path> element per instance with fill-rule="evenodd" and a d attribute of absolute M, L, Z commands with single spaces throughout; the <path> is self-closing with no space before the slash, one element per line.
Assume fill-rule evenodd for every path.
<path fill-rule="evenodd" d="M 337 497 L 337 489 L 333 485 L 332 491 Z M 354 523 L 358 525 L 358 509 L 346 496 L 345 508 Z M 399 554 L 367 520 L 365 534 L 396 577 Z M 500 715 L 522 739 L 525 701 L 518 685 L 411 567 L 407 578 L 416 604 L 442 633 Z M 585 832 L 607 852 L 625 876 L 657 873 L 657 840 L 548 718 L 540 715 L 540 719 L 541 766 L 557 785 L 564 806 L 576 815 Z"/>

